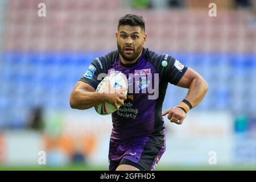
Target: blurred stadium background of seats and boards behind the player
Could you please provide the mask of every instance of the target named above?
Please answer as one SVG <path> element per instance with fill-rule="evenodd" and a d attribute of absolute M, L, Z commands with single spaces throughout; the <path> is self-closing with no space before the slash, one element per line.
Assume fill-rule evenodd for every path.
<path fill-rule="evenodd" d="M 145 47 L 209 83 L 183 125 L 165 118 L 167 151 L 156 169 L 255 170 L 255 0 L 0 0 L 0 169 L 108 169 L 111 117 L 73 110 L 69 96 L 90 62 L 116 49 L 125 14 L 143 16 Z M 169 85 L 163 109 L 186 93 Z"/>

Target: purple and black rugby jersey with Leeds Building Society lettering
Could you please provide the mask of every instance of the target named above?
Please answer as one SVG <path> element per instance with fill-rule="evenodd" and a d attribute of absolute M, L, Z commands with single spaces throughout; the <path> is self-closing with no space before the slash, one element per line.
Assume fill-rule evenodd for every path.
<path fill-rule="evenodd" d="M 152 134 L 163 132 L 164 120 L 161 114 L 168 82 L 176 85 L 186 71 L 187 67 L 184 67 L 174 57 L 159 55 L 143 48 L 137 63 L 131 65 L 121 63 L 118 51 L 97 57 L 80 81 L 84 81 L 96 89 L 101 82 L 101 80 L 97 80 L 100 73 L 109 75 L 113 72 L 122 72 L 126 75 L 129 80 L 127 100 L 125 100 L 124 106 L 112 113 L 113 129 L 110 140 L 119 143 L 147 138 Z M 155 73 L 158 73 L 158 80 L 155 80 L 157 76 Z M 137 78 L 133 78 L 129 74 L 133 74 Z M 130 89 L 131 84 L 133 84 L 132 90 Z M 155 92 L 158 89 L 158 97 L 148 99 L 148 96 L 155 94 L 155 92 L 147 92 L 148 88 L 153 88 L 152 90 Z M 137 93 L 135 89 L 137 89 Z"/>

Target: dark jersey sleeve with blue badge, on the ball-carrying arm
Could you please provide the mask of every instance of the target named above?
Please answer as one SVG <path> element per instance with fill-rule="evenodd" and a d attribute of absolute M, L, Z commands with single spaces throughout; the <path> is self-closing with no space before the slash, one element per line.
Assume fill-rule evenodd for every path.
<path fill-rule="evenodd" d="M 102 65 L 101 57 L 97 57 L 89 65 L 89 68 L 85 72 L 84 76 L 80 78 L 79 81 L 84 81 L 87 84 L 91 85 L 94 89 L 97 89 L 98 84 L 102 79 L 98 80 L 100 73 L 105 73 Z"/>

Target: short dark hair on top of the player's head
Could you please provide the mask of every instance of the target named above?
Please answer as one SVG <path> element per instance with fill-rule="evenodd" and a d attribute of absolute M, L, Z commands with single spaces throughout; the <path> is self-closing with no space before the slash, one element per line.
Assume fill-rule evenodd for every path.
<path fill-rule="evenodd" d="M 140 26 L 145 32 L 145 22 L 142 16 L 127 14 L 119 19 L 118 29 L 122 25 Z"/>

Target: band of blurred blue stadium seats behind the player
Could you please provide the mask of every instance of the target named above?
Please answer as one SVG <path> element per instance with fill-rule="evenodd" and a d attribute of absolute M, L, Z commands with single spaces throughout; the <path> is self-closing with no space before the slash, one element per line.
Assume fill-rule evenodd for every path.
<path fill-rule="evenodd" d="M 0 73 L 0 107 L 4 111 L 13 106 L 24 109 L 36 105 L 51 109 L 69 108 L 73 86 L 89 64 L 102 55 L 105 53 L 4 52 Z M 239 111 L 255 100 L 255 54 L 175 52 L 170 55 L 194 68 L 208 81 L 207 96 L 197 109 L 229 108 Z M 178 104 L 186 94 L 186 89 L 169 85 L 163 107 Z"/>

